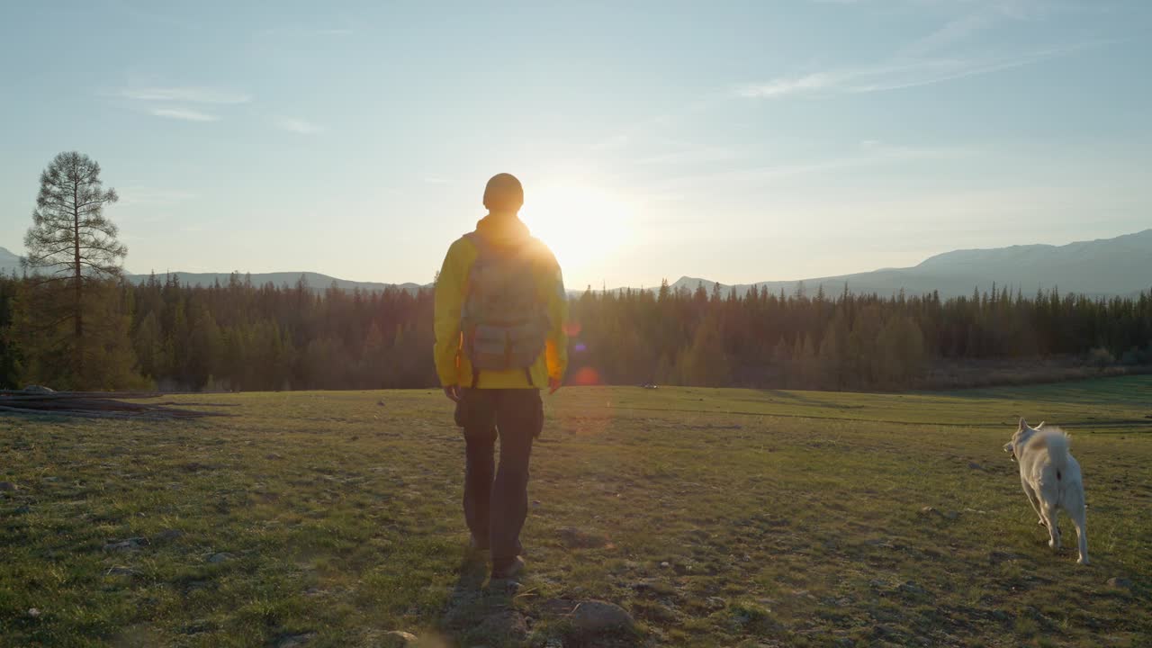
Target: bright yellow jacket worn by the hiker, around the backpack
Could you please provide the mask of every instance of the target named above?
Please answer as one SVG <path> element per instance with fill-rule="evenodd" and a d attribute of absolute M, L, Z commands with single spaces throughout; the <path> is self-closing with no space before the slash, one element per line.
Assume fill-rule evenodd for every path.
<path fill-rule="evenodd" d="M 494 244 L 521 239 L 530 239 L 528 226 L 518 218 L 488 214 L 476 224 L 476 232 Z M 548 378 L 562 380 L 568 369 L 568 336 L 564 323 L 568 321 L 568 294 L 564 292 L 564 280 L 560 273 L 556 257 L 544 243 L 536 241 L 539 249 L 537 265 L 537 284 L 540 295 L 547 300 L 548 318 L 552 330 L 545 342 L 544 354 L 531 367 L 532 384 L 523 369 L 506 371 L 480 371 L 477 387 L 485 390 L 499 389 L 540 389 L 548 384 Z M 435 357 L 437 374 L 444 386 L 471 386 L 472 367 L 461 349 L 460 311 L 464 306 L 468 289 L 468 273 L 478 256 L 476 244 L 467 238 L 456 240 L 448 248 L 444 266 L 435 282 Z"/>

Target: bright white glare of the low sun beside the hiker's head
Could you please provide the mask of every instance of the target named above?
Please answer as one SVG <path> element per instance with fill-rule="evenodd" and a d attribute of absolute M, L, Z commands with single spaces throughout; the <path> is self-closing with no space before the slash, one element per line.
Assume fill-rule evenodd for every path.
<path fill-rule="evenodd" d="M 596 277 L 599 265 L 632 239 L 632 205 L 591 184 L 529 190 L 522 213 L 569 276 Z"/>

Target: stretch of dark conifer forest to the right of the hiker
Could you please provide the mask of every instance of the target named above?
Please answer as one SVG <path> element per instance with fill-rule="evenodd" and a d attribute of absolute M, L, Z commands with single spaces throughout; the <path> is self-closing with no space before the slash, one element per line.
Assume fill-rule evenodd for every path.
<path fill-rule="evenodd" d="M 929 386 L 930 369 L 1061 356 L 1084 366 L 1152 363 L 1152 297 L 1090 299 L 992 287 L 829 297 L 719 285 L 586 291 L 573 306 L 576 375 L 613 384 L 819 390 Z"/>

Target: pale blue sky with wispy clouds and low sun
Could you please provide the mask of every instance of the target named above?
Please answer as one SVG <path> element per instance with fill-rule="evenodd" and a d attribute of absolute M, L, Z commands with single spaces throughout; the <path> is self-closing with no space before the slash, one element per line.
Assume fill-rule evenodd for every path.
<path fill-rule="evenodd" d="M 131 272 L 431 281 L 516 174 L 570 288 L 1152 226 L 1152 2 L 3 2 L 0 247 L 98 160 Z"/>

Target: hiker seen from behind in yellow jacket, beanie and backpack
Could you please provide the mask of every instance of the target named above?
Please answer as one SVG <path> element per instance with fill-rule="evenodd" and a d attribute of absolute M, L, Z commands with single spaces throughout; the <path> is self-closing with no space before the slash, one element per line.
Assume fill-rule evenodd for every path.
<path fill-rule="evenodd" d="M 560 265 L 520 220 L 523 204 L 515 176 L 488 180 L 488 214 L 448 248 L 435 282 L 435 367 L 467 442 L 464 519 L 471 547 L 491 551 L 493 579 L 524 567 L 520 532 L 532 439 L 544 425 L 540 390 L 555 393 L 568 364 Z"/>

